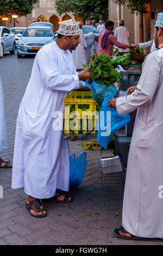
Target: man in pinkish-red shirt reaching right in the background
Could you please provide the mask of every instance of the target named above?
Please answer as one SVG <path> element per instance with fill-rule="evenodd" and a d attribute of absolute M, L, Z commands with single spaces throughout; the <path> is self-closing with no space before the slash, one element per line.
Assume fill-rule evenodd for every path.
<path fill-rule="evenodd" d="M 98 37 L 98 56 L 102 52 L 103 54 L 108 54 L 112 56 L 112 48 L 116 45 L 118 48 L 131 48 L 130 45 L 121 44 L 118 42 L 114 36 L 114 22 L 106 21 L 105 22 L 105 30 L 99 34 Z"/>

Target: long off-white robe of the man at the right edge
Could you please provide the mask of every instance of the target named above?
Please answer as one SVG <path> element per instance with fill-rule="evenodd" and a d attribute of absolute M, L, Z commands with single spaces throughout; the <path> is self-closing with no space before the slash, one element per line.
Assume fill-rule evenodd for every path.
<path fill-rule="evenodd" d="M 128 156 L 122 225 L 141 237 L 163 238 L 162 95 L 163 48 L 145 59 L 135 92 L 116 101 L 121 115 L 138 108 Z"/>

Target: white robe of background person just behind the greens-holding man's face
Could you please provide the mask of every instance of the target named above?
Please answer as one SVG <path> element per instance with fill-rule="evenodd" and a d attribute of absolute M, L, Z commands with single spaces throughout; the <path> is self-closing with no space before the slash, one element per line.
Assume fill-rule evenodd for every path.
<path fill-rule="evenodd" d="M 76 69 L 83 69 L 83 64 L 86 64 L 86 52 L 85 49 L 87 47 L 84 33 L 82 29 L 80 30 L 80 44 L 78 44 L 76 50 L 72 51 L 72 56 L 74 59 L 74 65 Z"/>

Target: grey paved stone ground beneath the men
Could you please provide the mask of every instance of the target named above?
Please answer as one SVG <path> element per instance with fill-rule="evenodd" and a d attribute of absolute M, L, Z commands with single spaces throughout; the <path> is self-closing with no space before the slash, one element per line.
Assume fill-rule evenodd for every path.
<path fill-rule="evenodd" d="M 18 108 L 30 78 L 34 57 L 17 59 L 4 54 L 0 74 L 4 89 L 8 149 L 0 156 L 11 160 Z M 83 152 L 79 142 L 70 142 L 70 154 Z M 23 188 L 11 189 L 11 169 L 1 169 L 0 245 L 162 245 L 161 239 L 127 241 L 114 236 L 121 225 L 125 174 L 102 175 L 99 150 L 87 151 L 87 169 L 82 185 L 70 196 L 70 204 L 45 204 L 48 216 L 37 219 L 26 210 Z"/>

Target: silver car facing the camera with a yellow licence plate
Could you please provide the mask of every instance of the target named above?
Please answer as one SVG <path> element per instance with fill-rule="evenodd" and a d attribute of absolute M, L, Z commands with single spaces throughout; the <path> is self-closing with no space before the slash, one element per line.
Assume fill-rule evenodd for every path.
<path fill-rule="evenodd" d="M 17 44 L 17 57 L 36 54 L 43 45 L 55 41 L 51 27 L 28 27 Z"/>

